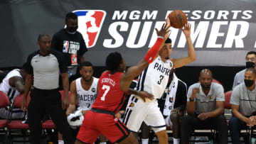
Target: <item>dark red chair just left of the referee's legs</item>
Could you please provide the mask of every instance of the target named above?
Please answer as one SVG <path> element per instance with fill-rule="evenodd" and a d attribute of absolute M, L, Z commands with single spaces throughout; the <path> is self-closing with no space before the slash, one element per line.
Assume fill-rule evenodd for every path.
<path fill-rule="evenodd" d="M 16 98 L 14 99 L 14 103 L 12 104 L 11 108 L 10 108 L 10 117 L 9 117 L 9 122 L 7 125 L 8 128 L 8 137 L 10 140 L 10 143 L 14 142 L 14 141 L 22 141 L 23 143 L 25 143 L 26 141 L 26 136 L 28 137 L 28 124 L 26 123 L 22 123 L 21 120 L 12 120 L 11 119 L 11 115 L 13 113 L 12 109 L 14 108 L 21 108 L 22 104 L 23 104 L 23 94 L 19 94 L 18 96 L 16 96 Z M 28 108 L 28 104 L 30 101 L 30 94 L 28 94 L 27 97 L 27 102 L 26 102 L 26 108 Z M 23 138 L 23 140 L 13 140 L 13 138 Z"/>

